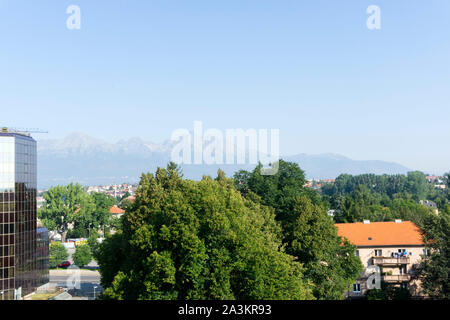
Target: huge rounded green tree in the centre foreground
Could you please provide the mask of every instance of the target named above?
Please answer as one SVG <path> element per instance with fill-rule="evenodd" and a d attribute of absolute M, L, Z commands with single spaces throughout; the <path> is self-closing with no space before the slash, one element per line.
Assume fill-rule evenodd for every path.
<path fill-rule="evenodd" d="M 100 246 L 103 298 L 312 299 L 280 233 L 273 211 L 222 174 L 196 182 L 158 168 Z"/>

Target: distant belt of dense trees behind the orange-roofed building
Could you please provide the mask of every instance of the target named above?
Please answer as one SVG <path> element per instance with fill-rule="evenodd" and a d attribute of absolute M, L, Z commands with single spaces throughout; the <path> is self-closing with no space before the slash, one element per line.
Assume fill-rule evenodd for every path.
<path fill-rule="evenodd" d="M 427 183 L 422 172 L 343 174 L 334 184 L 324 185 L 321 192 L 328 207 L 335 210 L 334 218 L 339 223 L 403 219 L 421 224 L 433 210 L 421 205 L 420 200 L 432 200 L 440 212 L 450 214 L 448 189 L 437 189 Z"/>

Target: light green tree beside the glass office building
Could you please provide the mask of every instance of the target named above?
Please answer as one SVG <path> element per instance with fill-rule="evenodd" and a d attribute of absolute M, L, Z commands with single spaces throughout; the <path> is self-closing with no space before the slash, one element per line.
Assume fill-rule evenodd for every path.
<path fill-rule="evenodd" d="M 43 197 L 46 204 L 39 210 L 39 218 L 47 229 L 61 234 L 62 242 L 72 223 L 88 228 L 95 205 L 79 184 L 50 188 Z"/>

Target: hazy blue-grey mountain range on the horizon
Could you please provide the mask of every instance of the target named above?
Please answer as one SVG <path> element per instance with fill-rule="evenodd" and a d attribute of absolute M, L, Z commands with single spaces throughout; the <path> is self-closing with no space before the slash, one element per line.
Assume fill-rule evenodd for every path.
<path fill-rule="evenodd" d="M 57 184 L 79 182 L 98 185 L 137 182 L 142 172 L 154 172 L 158 166 L 170 161 L 170 141 L 155 144 L 140 138 L 108 143 L 83 133 L 73 133 L 60 140 L 38 141 L 38 184 L 48 188 Z M 357 161 L 336 154 L 286 156 L 283 159 L 297 162 L 308 178 L 335 178 L 348 174 L 405 174 L 408 168 L 391 162 Z M 231 176 L 239 169 L 251 170 L 253 165 L 185 165 L 184 176 L 200 179 L 203 175 L 215 176 L 222 168 Z"/>

